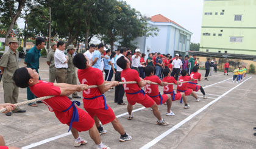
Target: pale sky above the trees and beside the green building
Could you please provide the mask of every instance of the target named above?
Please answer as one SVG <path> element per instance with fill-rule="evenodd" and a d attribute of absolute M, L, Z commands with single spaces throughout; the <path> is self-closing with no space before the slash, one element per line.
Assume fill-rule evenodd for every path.
<path fill-rule="evenodd" d="M 191 43 L 200 43 L 203 0 L 124 0 L 142 15 L 161 14 L 193 33 Z M 24 20 L 17 20 L 24 29 Z"/>

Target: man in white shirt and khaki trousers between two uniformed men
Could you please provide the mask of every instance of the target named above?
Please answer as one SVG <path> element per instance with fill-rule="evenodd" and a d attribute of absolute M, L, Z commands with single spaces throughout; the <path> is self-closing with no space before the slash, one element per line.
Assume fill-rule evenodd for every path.
<path fill-rule="evenodd" d="M 54 64 L 56 68 L 56 82 L 66 83 L 66 71 L 68 69 L 68 57 L 64 54 L 65 43 L 59 41 L 54 54 Z"/>

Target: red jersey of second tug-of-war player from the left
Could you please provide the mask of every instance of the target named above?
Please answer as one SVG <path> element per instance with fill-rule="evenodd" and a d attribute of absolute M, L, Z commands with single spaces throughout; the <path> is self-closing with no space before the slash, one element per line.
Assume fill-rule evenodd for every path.
<path fill-rule="evenodd" d="M 102 83 L 104 83 L 102 72 L 97 68 L 78 69 L 77 77 L 80 83 L 85 85 L 102 85 Z M 99 95 L 102 95 L 99 88 L 90 88 L 83 91 L 83 97 L 87 99 Z M 84 108 L 100 109 L 105 107 L 102 96 L 91 100 L 84 99 L 83 101 Z"/>

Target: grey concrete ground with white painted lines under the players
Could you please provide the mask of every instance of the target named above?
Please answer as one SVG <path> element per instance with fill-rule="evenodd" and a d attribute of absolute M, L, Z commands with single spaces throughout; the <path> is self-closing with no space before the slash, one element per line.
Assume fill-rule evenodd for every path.
<path fill-rule="evenodd" d="M 23 61 L 21 59 L 21 66 L 24 66 Z M 48 81 L 46 58 L 40 58 L 39 72 L 41 78 Z M 204 71 L 200 72 L 205 74 Z M 170 123 L 169 126 L 156 125 L 157 119 L 151 109 L 143 108 L 140 104 L 133 108 L 138 109 L 133 113 L 133 120 L 127 120 L 126 106 L 114 103 L 115 90 L 106 92 L 108 105 L 132 140 L 119 142 L 119 134 L 108 123 L 104 125 L 107 134 L 101 136 L 102 142 L 111 148 L 255 148 L 255 75 L 247 75 L 240 83 L 233 83 L 231 77 L 219 75 L 210 77 L 209 81 L 201 81 L 199 84 L 204 86 L 209 98 L 202 99 L 200 91 L 197 95 L 201 97 L 201 102 L 197 103 L 193 97 L 188 97 L 190 109 L 183 109 L 179 101 L 173 102 L 171 109 L 175 116 L 165 116 L 166 105 L 160 105 L 160 113 Z M 0 103 L 3 103 L 2 85 L 0 88 Z M 159 89 L 162 92 L 162 87 Z M 82 96 L 82 92 L 79 95 Z M 23 101 L 26 101 L 26 89 L 20 89 L 18 102 Z M 79 101 L 82 102 L 82 99 Z M 124 101 L 127 103 L 126 97 Z M 46 105 L 41 103 L 37 108 L 21 108 L 27 112 L 15 113 L 11 117 L 0 114 L 0 134 L 7 145 L 21 148 L 74 148 L 73 136 L 67 134 L 68 126 L 60 123 Z M 94 147 L 88 132 L 82 132 L 80 136 L 88 140 L 88 144 L 79 148 Z"/>

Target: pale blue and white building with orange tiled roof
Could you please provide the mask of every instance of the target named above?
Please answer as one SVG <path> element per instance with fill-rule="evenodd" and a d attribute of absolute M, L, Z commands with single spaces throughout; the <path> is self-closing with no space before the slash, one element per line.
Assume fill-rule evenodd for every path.
<path fill-rule="evenodd" d="M 174 53 L 185 55 L 190 50 L 193 33 L 171 19 L 160 14 L 154 15 L 148 20 L 148 26 L 157 27 L 159 32 L 157 36 L 141 36 L 133 41 L 142 53 L 148 55 L 152 52 L 160 52 L 173 56 Z"/>

